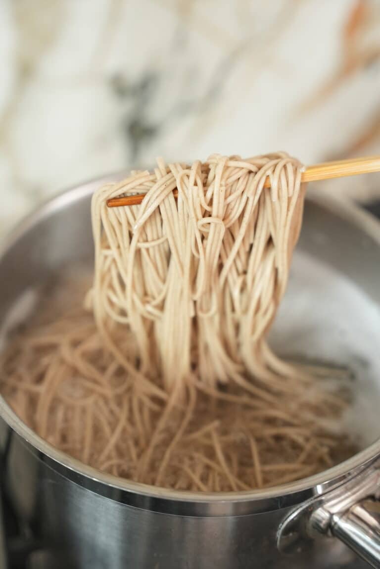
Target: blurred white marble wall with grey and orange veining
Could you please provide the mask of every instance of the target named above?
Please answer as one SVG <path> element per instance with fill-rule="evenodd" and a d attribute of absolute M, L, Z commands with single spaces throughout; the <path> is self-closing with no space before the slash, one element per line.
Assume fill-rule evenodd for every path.
<path fill-rule="evenodd" d="M 98 175 L 380 154 L 378 0 L 1 0 L 0 234 Z M 380 198 L 378 175 L 321 191 Z"/>

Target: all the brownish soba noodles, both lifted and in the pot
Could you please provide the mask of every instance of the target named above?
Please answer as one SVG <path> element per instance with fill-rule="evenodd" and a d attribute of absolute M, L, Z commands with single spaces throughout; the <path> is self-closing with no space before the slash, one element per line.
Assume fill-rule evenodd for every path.
<path fill-rule="evenodd" d="M 213 155 L 98 190 L 85 307 L 64 283 L 69 299 L 44 301 L 2 356 L 16 413 L 84 463 L 202 492 L 296 480 L 351 452 L 328 427 L 342 394 L 265 339 L 298 240 L 300 176 L 284 153 Z M 135 192 L 141 205 L 106 205 Z"/>

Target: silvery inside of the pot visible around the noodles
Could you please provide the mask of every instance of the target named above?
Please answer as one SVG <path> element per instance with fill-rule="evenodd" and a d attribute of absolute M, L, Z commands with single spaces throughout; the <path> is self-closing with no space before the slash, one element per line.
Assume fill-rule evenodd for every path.
<path fill-rule="evenodd" d="M 67 267 L 91 270 L 90 196 L 98 184 L 53 199 L 10 238 L 0 258 L 3 340 L 38 302 L 36 290 L 44 283 Z M 380 436 L 378 267 L 377 222 L 353 207 L 307 199 L 288 290 L 270 333 L 270 344 L 282 356 L 336 365 L 352 376 L 354 401 L 341 429 L 361 449 Z"/>

